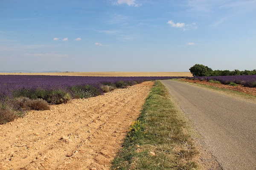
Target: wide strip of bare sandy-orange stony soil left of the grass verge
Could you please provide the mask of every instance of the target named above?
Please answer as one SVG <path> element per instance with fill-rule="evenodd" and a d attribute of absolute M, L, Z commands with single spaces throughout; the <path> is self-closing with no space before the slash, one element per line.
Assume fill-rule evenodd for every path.
<path fill-rule="evenodd" d="M 29 111 L 0 125 L 0 169 L 109 169 L 153 84 Z"/>

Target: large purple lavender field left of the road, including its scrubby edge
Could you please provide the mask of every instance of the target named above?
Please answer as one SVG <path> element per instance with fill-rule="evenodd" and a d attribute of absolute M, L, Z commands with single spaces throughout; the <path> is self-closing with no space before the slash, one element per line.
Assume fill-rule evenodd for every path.
<path fill-rule="evenodd" d="M 24 115 L 28 109 L 48 110 L 49 104 L 98 96 L 144 81 L 181 77 L 82 77 L 0 75 L 0 124 Z"/>

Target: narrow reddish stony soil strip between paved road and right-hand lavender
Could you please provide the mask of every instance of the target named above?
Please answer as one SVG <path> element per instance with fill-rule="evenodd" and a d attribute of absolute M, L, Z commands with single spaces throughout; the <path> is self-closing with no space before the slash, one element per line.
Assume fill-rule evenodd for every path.
<path fill-rule="evenodd" d="M 194 82 L 194 83 L 199 83 L 199 84 L 204 84 L 204 85 L 211 85 L 211 86 L 218 87 L 218 88 L 225 88 L 225 89 L 240 91 L 240 92 L 243 92 L 246 94 L 256 95 L 256 88 L 245 87 L 243 85 L 232 86 L 232 85 L 223 85 L 220 83 L 211 83 L 211 82 L 207 82 L 207 81 L 192 80 L 192 79 L 182 79 L 182 80 L 186 81 L 186 82 Z"/>

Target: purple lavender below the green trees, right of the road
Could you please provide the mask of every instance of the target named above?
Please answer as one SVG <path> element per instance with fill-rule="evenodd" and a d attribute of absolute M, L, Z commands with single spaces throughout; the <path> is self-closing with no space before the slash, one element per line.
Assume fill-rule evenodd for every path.
<path fill-rule="evenodd" d="M 239 76 L 211 76 L 211 77 L 189 77 L 189 79 L 214 80 L 222 84 L 230 84 L 231 82 L 241 84 L 247 87 L 256 87 L 256 75 L 239 75 Z"/>

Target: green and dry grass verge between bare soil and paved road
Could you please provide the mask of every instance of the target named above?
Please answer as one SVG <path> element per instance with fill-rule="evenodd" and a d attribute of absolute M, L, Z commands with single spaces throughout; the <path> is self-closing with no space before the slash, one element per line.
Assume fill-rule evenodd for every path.
<path fill-rule="evenodd" d="M 197 150 L 186 119 L 164 85 L 156 81 L 133 122 L 112 170 L 194 170 Z"/>

